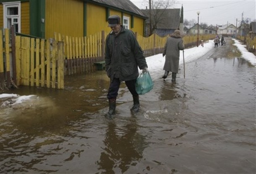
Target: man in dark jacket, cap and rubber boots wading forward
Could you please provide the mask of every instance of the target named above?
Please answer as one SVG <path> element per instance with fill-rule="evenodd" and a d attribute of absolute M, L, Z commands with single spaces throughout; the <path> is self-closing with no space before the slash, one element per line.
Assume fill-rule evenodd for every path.
<path fill-rule="evenodd" d="M 125 29 L 121 25 L 118 15 L 112 15 L 108 18 L 108 26 L 112 31 L 107 35 L 105 49 L 105 70 L 110 78 L 110 87 L 107 92 L 109 111 L 105 117 L 112 119 L 115 115 L 116 97 L 120 82 L 123 81 L 133 95 L 131 112 L 138 112 L 139 97 L 135 90 L 135 83 L 139 75 L 138 67 L 147 72 L 147 64 L 133 31 Z"/>

